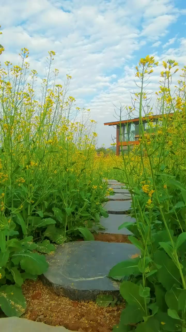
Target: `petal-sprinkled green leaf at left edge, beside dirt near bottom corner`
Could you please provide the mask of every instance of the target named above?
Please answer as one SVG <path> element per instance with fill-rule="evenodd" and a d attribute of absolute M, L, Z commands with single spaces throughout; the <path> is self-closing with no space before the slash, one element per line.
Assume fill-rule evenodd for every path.
<path fill-rule="evenodd" d="M 6 316 L 20 317 L 26 310 L 26 301 L 22 294 L 22 289 L 11 286 L 0 287 L 0 307 Z"/>

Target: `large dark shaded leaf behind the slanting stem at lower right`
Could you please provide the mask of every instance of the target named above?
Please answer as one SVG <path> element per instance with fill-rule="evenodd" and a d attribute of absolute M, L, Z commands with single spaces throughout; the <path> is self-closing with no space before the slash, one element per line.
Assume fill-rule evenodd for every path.
<path fill-rule="evenodd" d="M 164 251 L 157 250 L 154 254 L 154 261 L 156 264 L 162 266 L 157 271 L 158 281 L 166 290 L 176 284 L 181 286 L 180 273 L 177 266 Z"/>

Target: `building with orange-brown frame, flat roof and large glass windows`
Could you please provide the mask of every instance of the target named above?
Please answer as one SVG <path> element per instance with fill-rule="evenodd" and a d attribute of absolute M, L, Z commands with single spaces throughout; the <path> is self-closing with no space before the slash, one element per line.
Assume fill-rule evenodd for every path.
<path fill-rule="evenodd" d="M 169 113 L 172 116 L 173 113 Z M 151 115 L 142 119 L 143 130 L 146 133 L 153 134 L 153 125 L 156 125 L 161 115 Z M 120 133 L 121 124 L 121 133 Z M 122 145 L 123 150 L 128 150 L 128 145 L 133 148 L 134 145 L 139 144 L 139 118 L 129 119 L 123 121 L 106 122 L 104 125 L 116 126 L 116 155 L 120 153 L 120 146 Z M 121 139 L 120 139 L 121 138 Z"/>

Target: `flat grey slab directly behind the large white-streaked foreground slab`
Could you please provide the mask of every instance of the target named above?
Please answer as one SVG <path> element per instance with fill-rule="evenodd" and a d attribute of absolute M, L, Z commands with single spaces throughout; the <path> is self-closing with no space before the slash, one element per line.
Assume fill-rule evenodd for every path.
<path fill-rule="evenodd" d="M 135 222 L 136 219 L 126 214 L 109 214 L 108 218 L 101 217 L 100 224 L 105 227 L 106 230 L 99 229 L 98 232 L 106 234 L 132 234 L 127 228 L 118 229 L 118 227 L 126 221 Z"/>

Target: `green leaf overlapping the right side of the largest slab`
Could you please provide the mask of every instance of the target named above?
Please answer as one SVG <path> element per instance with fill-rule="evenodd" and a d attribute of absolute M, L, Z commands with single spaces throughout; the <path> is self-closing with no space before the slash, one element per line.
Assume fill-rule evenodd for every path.
<path fill-rule="evenodd" d="M 139 272 L 138 262 L 139 258 L 120 262 L 116 264 L 109 271 L 108 277 L 120 280 L 124 276 L 129 276 L 133 273 L 138 273 Z"/>

